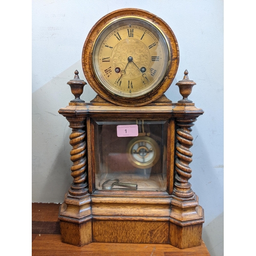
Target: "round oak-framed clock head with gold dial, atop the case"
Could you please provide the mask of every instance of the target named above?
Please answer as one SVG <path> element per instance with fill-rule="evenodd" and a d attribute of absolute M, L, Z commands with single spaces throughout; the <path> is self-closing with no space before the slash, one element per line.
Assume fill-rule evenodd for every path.
<path fill-rule="evenodd" d="M 156 15 L 121 9 L 102 17 L 82 50 L 82 68 L 93 90 L 122 106 L 148 104 L 175 78 L 179 47 L 169 26 Z"/>

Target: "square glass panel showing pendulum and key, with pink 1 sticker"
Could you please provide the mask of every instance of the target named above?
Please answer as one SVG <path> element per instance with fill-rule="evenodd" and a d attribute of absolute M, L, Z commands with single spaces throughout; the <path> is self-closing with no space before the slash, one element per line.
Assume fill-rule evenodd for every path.
<path fill-rule="evenodd" d="M 96 189 L 166 190 L 167 120 L 97 120 L 94 127 Z"/>

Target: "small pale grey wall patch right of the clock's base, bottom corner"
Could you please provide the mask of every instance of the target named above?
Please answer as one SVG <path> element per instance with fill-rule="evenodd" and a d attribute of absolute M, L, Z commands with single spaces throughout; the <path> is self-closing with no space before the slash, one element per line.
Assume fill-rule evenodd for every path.
<path fill-rule="evenodd" d="M 203 228 L 202 238 L 211 256 L 224 255 L 224 212 Z"/>

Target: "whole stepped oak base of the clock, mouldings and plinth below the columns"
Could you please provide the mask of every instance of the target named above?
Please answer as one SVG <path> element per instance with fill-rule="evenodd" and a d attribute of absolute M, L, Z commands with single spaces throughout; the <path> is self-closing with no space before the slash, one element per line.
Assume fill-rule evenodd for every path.
<path fill-rule="evenodd" d="M 61 241 L 75 246 L 92 242 L 200 246 L 204 217 L 198 197 L 185 201 L 161 195 L 75 199 L 67 194 L 59 210 Z"/>

